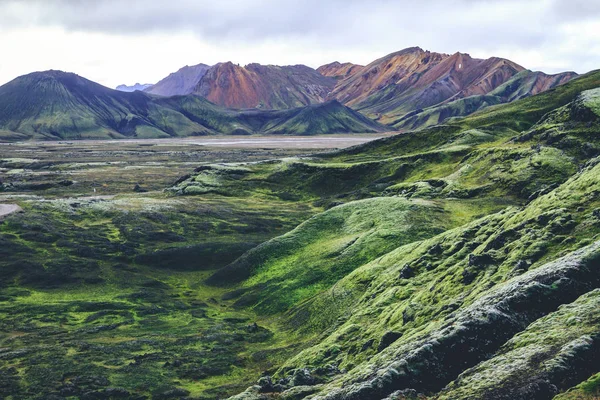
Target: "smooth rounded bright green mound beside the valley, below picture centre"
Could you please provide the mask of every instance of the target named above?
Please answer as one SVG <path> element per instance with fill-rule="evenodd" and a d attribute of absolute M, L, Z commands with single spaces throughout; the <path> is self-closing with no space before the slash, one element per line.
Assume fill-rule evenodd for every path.
<path fill-rule="evenodd" d="M 441 207 L 426 201 L 377 198 L 351 202 L 254 248 L 207 282 L 219 286 L 243 282 L 225 294 L 227 299 L 235 299 L 236 307 L 268 314 L 284 312 L 329 289 L 369 260 L 440 233 L 449 224 L 447 219 Z"/>

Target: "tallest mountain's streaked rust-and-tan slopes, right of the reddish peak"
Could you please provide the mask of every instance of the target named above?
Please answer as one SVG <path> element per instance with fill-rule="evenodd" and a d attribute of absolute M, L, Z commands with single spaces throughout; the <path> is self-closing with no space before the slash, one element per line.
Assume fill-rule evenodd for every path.
<path fill-rule="evenodd" d="M 339 82 L 332 96 L 388 122 L 414 110 L 487 94 L 523 70 L 502 58 L 480 60 L 412 47 L 380 58 Z"/>

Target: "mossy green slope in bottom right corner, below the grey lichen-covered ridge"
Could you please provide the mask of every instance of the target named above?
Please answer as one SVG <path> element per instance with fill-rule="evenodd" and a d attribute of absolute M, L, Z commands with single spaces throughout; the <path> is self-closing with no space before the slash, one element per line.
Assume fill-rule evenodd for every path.
<path fill-rule="evenodd" d="M 493 358 L 462 373 L 439 398 L 551 397 L 595 372 L 598 357 L 600 289 L 528 326 Z"/>

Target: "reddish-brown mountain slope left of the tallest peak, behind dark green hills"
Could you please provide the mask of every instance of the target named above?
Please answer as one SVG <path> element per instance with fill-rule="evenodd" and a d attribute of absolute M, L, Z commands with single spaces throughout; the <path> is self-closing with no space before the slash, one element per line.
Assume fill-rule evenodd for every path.
<path fill-rule="evenodd" d="M 287 109 L 322 103 L 336 82 L 304 65 L 227 62 L 210 68 L 194 93 L 230 108 Z"/>

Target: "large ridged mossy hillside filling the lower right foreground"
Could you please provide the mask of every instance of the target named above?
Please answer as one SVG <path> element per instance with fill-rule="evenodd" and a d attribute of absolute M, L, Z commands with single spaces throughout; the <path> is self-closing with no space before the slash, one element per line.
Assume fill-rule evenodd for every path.
<path fill-rule="evenodd" d="M 382 399 L 405 389 L 433 398 L 547 398 L 544 391 L 557 394 L 587 379 L 598 367 L 599 174 L 595 160 L 526 207 L 400 246 L 298 304 L 288 312 L 294 329 L 298 319 L 328 328 L 276 373 L 288 382 L 277 389 L 281 398 L 298 390 L 289 384 L 297 371 L 312 376 L 319 384 L 313 393 L 323 399 Z M 567 322 L 575 310 L 582 321 Z M 547 347 L 528 350 L 530 380 L 516 367 L 514 375 L 512 367 L 496 372 L 495 363 L 510 361 L 502 352 L 517 346 L 507 341 L 542 334 Z M 513 354 L 527 357 L 525 350 Z M 327 365 L 337 369 L 323 376 Z M 469 368 L 485 368 L 487 380 L 467 379 L 475 373 Z M 494 397 L 499 393 L 506 397 Z"/>

